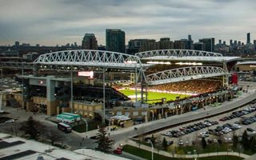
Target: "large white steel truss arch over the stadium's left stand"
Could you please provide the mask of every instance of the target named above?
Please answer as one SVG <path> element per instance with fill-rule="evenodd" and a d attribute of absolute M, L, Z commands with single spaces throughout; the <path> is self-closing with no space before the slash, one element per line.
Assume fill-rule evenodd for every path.
<path fill-rule="evenodd" d="M 61 66 L 97 66 L 106 68 L 140 68 L 140 58 L 106 50 L 63 50 L 40 55 L 34 63 Z"/>

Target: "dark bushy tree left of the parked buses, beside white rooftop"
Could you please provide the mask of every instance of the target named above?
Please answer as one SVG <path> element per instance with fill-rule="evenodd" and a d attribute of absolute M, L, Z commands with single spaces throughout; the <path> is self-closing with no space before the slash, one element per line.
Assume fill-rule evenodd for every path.
<path fill-rule="evenodd" d="M 42 132 L 43 125 L 41 122 L 34 120 L 32 116 L 24 122 L 19 130 L 23 130 L 25 134 L 29 134 L 30 138 L 37 139 Z"/>

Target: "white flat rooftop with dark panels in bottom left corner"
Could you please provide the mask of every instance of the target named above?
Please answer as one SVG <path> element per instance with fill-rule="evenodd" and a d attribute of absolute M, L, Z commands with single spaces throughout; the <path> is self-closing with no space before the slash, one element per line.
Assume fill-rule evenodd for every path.
<path fill-rule="evenodd" d="M 114 154 L 105 154 L 91 149 L 79 149 L 75 151 L 63 150 L 56 146 L 50 146 L 41 142 L 12 137 L 9 134 L 0 133 L 0 159 L 15 158 L 20 160 L 34 160 L 38 157 L 47 160 L 127 160 L 127 158 L 118 157 Z"/>

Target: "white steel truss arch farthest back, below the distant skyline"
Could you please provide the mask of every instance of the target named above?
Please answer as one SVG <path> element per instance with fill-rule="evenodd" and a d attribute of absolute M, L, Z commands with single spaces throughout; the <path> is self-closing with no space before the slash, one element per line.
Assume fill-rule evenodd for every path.
<path fill-rule="evenodd" d="M 152 58 L 157 56 L 165 57 L 223 57 L 222 54 L 207 52 L 203 50 L 149 50 L 136 53 L 139 58 Z"/>

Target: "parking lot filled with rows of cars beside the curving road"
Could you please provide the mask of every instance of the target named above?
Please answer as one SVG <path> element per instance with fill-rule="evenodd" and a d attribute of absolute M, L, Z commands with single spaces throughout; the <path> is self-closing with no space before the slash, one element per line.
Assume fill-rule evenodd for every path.
<path fill-rule="evenodd" d="M 227 114 L 162 130 L 154 136 L 161 136 L 161 140 L 166 138 L 168 142 L 174 143 L 174 146 L 190 146 L 202 137 L 205 137 L 208 143 L 218 142 L 219 138 L 224 142 L 232 142 L 233 134 L 242 135 L 244 130 L 247 130 L 248 134 L 256 134 L 255 115 L 256 103 L 251 103 Z"/>

